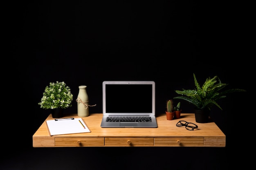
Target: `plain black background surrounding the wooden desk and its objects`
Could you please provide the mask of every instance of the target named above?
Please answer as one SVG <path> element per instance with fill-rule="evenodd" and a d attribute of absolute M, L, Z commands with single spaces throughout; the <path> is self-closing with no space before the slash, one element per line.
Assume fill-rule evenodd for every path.
<path fill-rule="evenodd" d="M 253 84 L 245 10 L 249 6 L 193 0 L 32 1 L 4 6 L 8 12 L 3 15 L 3 47 L 8 52 L 2 62 L 2 116 L 11 121 L 1 124 L 1 169 L 247 166 L 244 152 L 250 145 L 244 143 L 243 110 L 249 110 Z M 175 90 L 194 88 L 193 73 L 200 84 L 218 75 L 228 88 L 247 90 L 222 99 L 223 110 L 212 109 L 213 121 L 227 137 L 225 148 L 32 147 L 34 132 L 49 115 L 38 105 L 49 82 L 64 81 L 74 98 L 78 86 L 88 86 L 90 104 L 97 104 L 90 113 L 102 113 L 104 80 L 153 80 L 156 113 L 162 114 Z M 66 114 L 77 112 L 75 99 L 72 104 Z M 182 102 L 181 107 L 183 113 L 193 113 L 193 106 Z"/>

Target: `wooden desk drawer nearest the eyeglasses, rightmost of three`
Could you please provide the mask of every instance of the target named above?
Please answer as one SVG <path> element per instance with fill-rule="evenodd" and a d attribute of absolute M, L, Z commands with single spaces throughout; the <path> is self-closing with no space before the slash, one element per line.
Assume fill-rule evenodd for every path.
<path fill-rule="evenodd" d="M 204 137 L 155 137 L 155 146 L 204 146 Z"/>

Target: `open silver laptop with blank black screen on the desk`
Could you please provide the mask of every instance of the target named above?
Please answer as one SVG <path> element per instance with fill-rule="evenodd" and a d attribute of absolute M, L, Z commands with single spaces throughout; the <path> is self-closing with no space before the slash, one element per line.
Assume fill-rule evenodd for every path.
<path fill-rule="evenodd" d="M 104 81 L 102 128 L 157 128 L 154 81 Z"/>

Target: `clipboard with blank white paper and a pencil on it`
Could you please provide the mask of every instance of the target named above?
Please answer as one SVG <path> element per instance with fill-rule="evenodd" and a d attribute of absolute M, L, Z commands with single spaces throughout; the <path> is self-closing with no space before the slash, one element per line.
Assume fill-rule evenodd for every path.
<path fill-rule="evenodd" d="M 46 125 L 50 136 L 91 132 L 82 118 L 47 120 Z"/>

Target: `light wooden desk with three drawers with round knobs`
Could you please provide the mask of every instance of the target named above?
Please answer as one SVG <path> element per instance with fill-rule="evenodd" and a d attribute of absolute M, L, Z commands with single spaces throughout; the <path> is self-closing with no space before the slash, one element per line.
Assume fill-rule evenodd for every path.
<path fill-rule="evenodd" d="M 78 118 L 77 114 L 67 117 Z M 33 135 L 33 147 L 88 147 L 88 146 L 196 146 L 225 147 L 226 136 L 214 122 L 195 122 L 193 113 L 182 113 L 180 119 L 167 120 L 157 116 L 157 128 L 101 128 L 101 113 L 92 113 L 82 119 L 91 132 L 49 136 L 46 122 Z M 46 120 L 51 120 L 50 114 Z M 179 120 L 198 125 L 198 130 L 177 127 Z"/>

